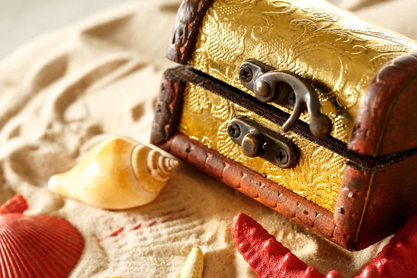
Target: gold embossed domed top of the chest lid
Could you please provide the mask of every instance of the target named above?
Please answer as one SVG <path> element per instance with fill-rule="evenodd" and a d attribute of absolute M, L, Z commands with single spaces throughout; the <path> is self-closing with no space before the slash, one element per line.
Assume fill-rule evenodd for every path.
<path fill-rule="evenodd" d="M 393 58 L 417 49 L 417 42 L 327 1 L 215 0 L 203 1 L 199 10 L 207 8 L 204 5 L 209 6 L 204 15 L 189 15 L 201 16 L 202 22 L 195 40 L 184 44 L 193 53 L 181 63 L 250 94 L 238 76 L 249 58 L 298 74 L 311 83 L 322 113 L 332 120 L 331 136 L 343 142 L 349 140 L 375 73 Z M 300 120 L 309 122 L 309 115 L 304 113 Z"/>

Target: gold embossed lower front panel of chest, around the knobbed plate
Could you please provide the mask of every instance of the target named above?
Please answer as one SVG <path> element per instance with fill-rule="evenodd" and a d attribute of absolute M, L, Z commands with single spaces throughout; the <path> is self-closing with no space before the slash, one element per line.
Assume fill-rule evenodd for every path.
<path fill-rule="evenodd" d="M 249 117 L 292 140 L 300 150 L 297 165 L 281 169 L 261 158 L 245 156 L 227 133 L 227 125 L 236 116 Z M 295 133 L 284 133 L 281 126 L 190 83 L 184 94 L 179 131 L 311 202 L 334 211 L 345 168 L 342 156 Z"/>

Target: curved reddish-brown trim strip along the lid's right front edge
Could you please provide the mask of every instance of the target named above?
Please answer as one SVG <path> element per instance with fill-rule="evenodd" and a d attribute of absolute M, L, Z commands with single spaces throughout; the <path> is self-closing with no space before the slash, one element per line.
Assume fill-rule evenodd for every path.
<path fill-rule="evenodd" d="M 391 60 L 377 72 L 363 95 L 348 149 L 368 156 L 389 154 L 379 149 L 386 122 L 396 99 L 416 77 L 417 51 Z"/>

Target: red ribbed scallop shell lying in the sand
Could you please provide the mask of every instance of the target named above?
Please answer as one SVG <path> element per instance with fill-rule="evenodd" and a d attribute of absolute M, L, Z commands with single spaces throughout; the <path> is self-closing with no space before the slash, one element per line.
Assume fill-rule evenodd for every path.
<path fill-rule="evenodd" d="M 83 252 L 83 237 L 66 220 L 23 215 L 22 199 L 0 207 L 0 278 L 67 277 Z"/>

